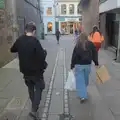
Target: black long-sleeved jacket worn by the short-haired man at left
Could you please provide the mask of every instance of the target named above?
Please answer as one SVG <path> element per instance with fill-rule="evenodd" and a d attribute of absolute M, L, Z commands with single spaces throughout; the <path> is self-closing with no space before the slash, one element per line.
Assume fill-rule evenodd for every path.
<path fill-rule="evenodd" d="M 19 37 L 11 47 L 11 52 L 18 53 L 20 72 L 25 76 L 43 75 L 47 67 L 47 53 L 40 42 L 33 36 Z"/>

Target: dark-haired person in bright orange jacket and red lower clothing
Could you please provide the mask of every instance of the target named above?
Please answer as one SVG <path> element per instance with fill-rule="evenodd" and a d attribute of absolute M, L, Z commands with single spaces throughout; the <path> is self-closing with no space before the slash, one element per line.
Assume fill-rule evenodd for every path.
<path fill-rule="evenodd" d="M 104 41 L 104 36 L 99 31 L 97 26 L 93 27 L 93 31 L 88 36 L 88 39 L 94 43 L 96 50 L 99 51 L 101 48 L 101 43 Z"/>

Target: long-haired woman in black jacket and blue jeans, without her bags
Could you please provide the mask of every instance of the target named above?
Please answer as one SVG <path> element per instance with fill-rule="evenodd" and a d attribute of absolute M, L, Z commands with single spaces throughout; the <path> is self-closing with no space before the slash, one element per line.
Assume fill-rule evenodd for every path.
<path fill-rule="evenodd" d="M 81 103 L 88 99 L 87 86 L 89 85 L 92 60 L 96 66 L 99 65 L 94 44 L 88 40 L 86 33 L 81 33 L 73 50 L 71 60 L 71 69 L 74 69 L 75 72 L 76 93 Z"/>

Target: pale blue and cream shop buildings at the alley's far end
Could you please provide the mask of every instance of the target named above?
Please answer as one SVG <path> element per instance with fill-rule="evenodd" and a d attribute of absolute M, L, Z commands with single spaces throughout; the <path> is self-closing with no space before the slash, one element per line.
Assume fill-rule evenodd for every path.
<path fill-rule="evenodd" d="M 81 19 L 78 3 L 79 0 L 41 0 L 44 33 L 55 34 L 56 29 L 66 34 L 73 33 Z"/>

